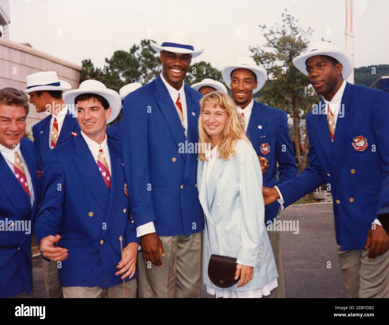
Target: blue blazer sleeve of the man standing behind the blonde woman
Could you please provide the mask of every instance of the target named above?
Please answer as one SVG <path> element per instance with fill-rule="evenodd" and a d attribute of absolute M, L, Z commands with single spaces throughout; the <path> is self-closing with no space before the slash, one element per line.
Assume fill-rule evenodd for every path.
<path fill-rule="evenodd" d="M 289 137 L 288 118 L 286 112 L 281 111 L 282 116 L 277 128 L 276 159 L 279 164 L 279 182 L 285 182 L 298 174 L 296 159 L 294 157 L 293 144 Z"/>

